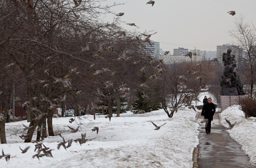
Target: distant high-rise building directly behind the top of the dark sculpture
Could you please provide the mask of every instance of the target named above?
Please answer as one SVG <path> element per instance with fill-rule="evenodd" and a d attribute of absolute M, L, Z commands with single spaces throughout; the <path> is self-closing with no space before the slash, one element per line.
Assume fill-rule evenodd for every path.
<path fill-rule="evenodd" d="M 238 46 L 230 45 L 228 44 L 223 44 L 222 46 L 217 46 L 217 58 L 220 64 L 222 64 L 222 56 L 223 53 L 227 52 L 228 49 L 231 49 L 232 52 L 231 54 L 235 55 L 235 61 L 236 61 L 236 67 L 237 67 L 237 72 L 239 73 L 241 71 L 241 66 L 240 64 L 243 56 L 243 49 L 239 48 Z"/>

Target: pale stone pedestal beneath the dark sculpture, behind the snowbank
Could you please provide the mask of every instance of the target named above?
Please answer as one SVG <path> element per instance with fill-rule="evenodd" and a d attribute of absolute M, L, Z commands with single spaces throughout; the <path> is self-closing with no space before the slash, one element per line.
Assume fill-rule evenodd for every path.
<path fill-rule="evenodd" d="M 240 96 L 220 96 L 218 95 L 218 112 L 226 110 L 229 106 L 238 104 L 240 98 L 246 98 L 246 95 Z"/>

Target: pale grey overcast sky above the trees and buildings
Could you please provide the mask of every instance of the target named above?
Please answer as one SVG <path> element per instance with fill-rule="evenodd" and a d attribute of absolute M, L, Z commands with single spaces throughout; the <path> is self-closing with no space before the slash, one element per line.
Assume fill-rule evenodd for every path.
<path fill-rule="evenodd" d="M 106 14 L 104 20 L 120 17 L 128 31 L 157 32 L 150 40 L 160 42 L 160 48 L 172 54 L 178 47 L 216 51 L 218 45 L 235 44 L 229 31 L 241 15 L 244 21 L 256 25 L 255 0 L 155 0 L 154 6 L 146 4 L 148 0 L 106 0 L 102 4 L 113 2 L 125 3 L 112 10 L 124 15 Z M 234 16 L 227 13 L 231 10 L 236 11 Z"/>

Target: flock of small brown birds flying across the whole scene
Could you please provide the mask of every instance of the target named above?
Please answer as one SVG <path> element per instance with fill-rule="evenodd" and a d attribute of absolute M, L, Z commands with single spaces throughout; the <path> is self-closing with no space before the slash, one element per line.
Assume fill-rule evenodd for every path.
<path fill-rule="evenodd" d="M 50 3 L 51 3 L 51 4 L 55 4 L 56 1 L 57 1 L 57 0 L 50 0 Z M 77 8 L 78 6 L 80 6 L 80 4 L 81 4 L 81 2 L 82 2 L 82 0 L 78 0 L 78 1 L 73 0 L 73 1 L 74 1 L 74 6 L 73 6 L 72 8 Z M 150 0 L 150 1 L 148 1 L 146 4 L 152 4 L 152 6 L 153 6 L 154 3 L 155 3 L 154 1 Z M 228 13 L 231 14 L 232 16 L 233 16 L 234 14 L 236 14 L 235 11 L 230 11 L 230 12 L 228 12 Z M 77 14 L 75 14 L 74 12 L 73 12 L 73 14 L 74 14 L 74 19 L 75 19 L 75 20 L 77 20 L 77 19 L 80 17 L 80 15 L 77 15 Z M 124 13 L 118 13 L 118 14 L 116 14 L 116 16 L 123 16 L 123 15 L 124 15 Z M 54 24 L 59 24 L 60 22 L 61 22 L 61 19 L 60 19 L 60 18 L 55 18 Z M 130 25 L 130 26 L 136 26 L 136 24 L 134 24 L 134 23 L 127 23 L 127 24 Z M 139 28 L 138 26 L 136 26 L 136 27 Z M 91 29 L 86 30 L 86 33 L 90 33 L 90 32 L 92 32 Z M 157 32 L 155 32 L 155 33 L 153 33 L 153 34 L 156 34 L 156 33 L 157 33 Z M 136 37 L 136 40 L 137 40 L 136 42 L 137 42 L 137 43 L 145 43 L 145 42 L 148 42 L 148 44 L 152 45 L 152 44 L 150 43 L 150 37 L 151 37 L 153 34 L 142 34 L 143 36 L 145 36 L 145 38 L 142 40 L 142 39 Z M 114 33 L 114 35 L 115 35 L 116 38 L 120 38 L 121 36 L 126 36 L 126 32 L 125 32 L 125 31 L 117 31 L 117 32 Z M 92 42 L 88 42 L 85 47 L 82 47 L 82 46 L 81 46 L 82 52 L 90 50 L 91 45 L 93 45 L 93 43 L 92 43 Z M 95 44 L 94 44 L 94 45 L 95 45 Z M 104 46 L 105 46 L 104 43 L 102 43 L 102 44 L 100 44 L 99 46 L 97 46 L 98 52 L 102 52 L 102 51 L 104 50 L 104 48 L 106 48 L 107 50 L 110 50 L 110 51 L 113 51 L 113 50 L 114 50 L 114 46 L 112 46 L 112 45 L 110 45 L 110 46 L 108 46 L 108 47 L 104 47 Z M 164 53 L 164 55 L 167 55 L 168 53 L 169 53 L 169 51 L 166 51 L 166 52 Z M 97 54 L 95 54 L 95 56 L 97 56 Z M 189 56 L 190 58 L 192 58 L 192 52 L 188 52 L 185 56 Z M 122 54 L 118 53 L 118 58 L 117 58 L 117 60 L 118 60 L 118 61 L 120 61 L 120 60 L 128 60 L 128 59 L 130 59 L 130 58 L 132 58 L 132 57 L 128 56 L 127 53 L 126 53 L 126 50 L 124 50 Z M 50 60 L 50 59 L 51 59 L 50 56 L 46 58 L 46 60 Z M 163 64 L 162 60 L 155 60 L 154 58 L 151 58 L 151 57 L 150 57 L 150 59 L 151 59 L 151 62 L 150 62 L 151 65 L 152 65 L 152 63 L 155 63 L 155 62 L 157 62 L 158 64 L 157 64 L 157 66 L 152 66 L 152 67 L 154 68 L 155 74 L 152 74 L 149 78 L 150 78 L 150 79 L 154 79 L 154 80 L 161 79 L 161 78 L 159 77 L 159 75 L 162 74 L 162 72 L 164 71 L 164 64 Z M 218 63 L 218 58 L 213 58 L 210 62 L 214 62 L 214 61 L 216 61 L 216 62 Z M 133 64 L 138 64 L 139 62 L 140 62 L 140 61 L 136 61 L 136 60 L 134 59 Z M 209 64 L 210 64 L 210 62 L 209 62 Z M 12 66 L 12 65 L 14 65 L 14 63 L 8 64 L 8 65 L 6 66 L 6 68 L 9 68 L 9 67 Z M 92 65 L 90 66 L 90 68 L 93 67 L 94 65 L 95 65 L 95 64 L 92 64 Z M 197 64 L 197 65 L 201 67 L 200 64 Z M 147 70 L 147 67 L 142 67 L 142 68 L 140 69 L 140 71 L 145 72 L 145 73 L 146 73 L 146 70 Z M 192 70 L 193 70 L 192 74 L 195 75 L 195 74 L 198 73 L 197 70 L 195 70 L 195 69 L 192 69 Z M 72 74 L 72 73 L 75 73 L 75 74 L 77 74 L 77 75 L 80 74 L 80 72 L 78 71 L 78 67 L 76 67 L 76 68 L 71 68 L 68 72 L 69 72 L 70 74 Z M 108 68 L 102 68 L 102 69 L 100 69 L 100 70 L 95 70 L 95 72 L 93 73 L 93 75 L 100 75 L 100 74 L 102 74 L 103 72 L 111 72 L 111 71 L 110 71 Z M 45 70 L 44 73 L 46 73 L 46 74 L 49 76 L 49 70 Z M 112 72 L 112 73 L 114 74 L 114 72 Z M 57 77 L 55 77 L 55 76 L 52 76 L 52 78 L 54 79 L 53 82 L 56 83 L 56 84 L 57 84 L 57 83 L 60 83 L 60 84 L 62 84 L 64 87 L 69 87 L 69 88 L 72 90 L 72 80 L 70 79 L 70 74 L 67 74 L 66 76 L 64 76 L 64 78 L 57 78 Z M 186 74 L 190 74 L 190 71 L 187 71 Z M 184 76 L 184 75 L 180 75 L 180 76 L 178 76 L 178 78 L 179 78 L 179 79 L 186 80 L 186 81 L 188 80 L 188 79 L 186 78 L 186 76 Z M 202 82 L 202 76 L 197 76 L 197 77 L 194 78 L 194 79 L 200 81 L 200 83 Z M 47 83 L 47 82 L 49 82 L 49 81 L 47 81 L 47 80 L 38 80 L 38 82 L 44 84 L 43 87 L 44 87 L 45 89 L 48 89 L 49 83 Z M 184 82 L 179 82 L 179 83 L 180 83 L 180 85 L 185 86 Z M 104 84 L 106 85 L 106 88 L 109 88 L 109 87 L 112 87 L 112 86 L 113 86 L 113 82 L 111 82 L 111 81 L 106 81 L 106 82 L 104 82 Z M 122 84 L 122 86 L 123 86 L 123 88 L 125 88 L 126 84 Z M 141 88 L 149 88 L 149 86 L 148 86 L 146 83 L 140 84 L 139 86 L 140 86 Z M 126 90 L 123 89 L 122 91 L 124 92 L 124 94 L 127 94 L 127 90 L 128 90 L 128 89 L 126 89 Z M 79 91 L 75 92 L 75 94 L 81 96 L 81 92 L 82 92 L 82 91 L 79 90 Z M 3 91 L 0 91 L 0 95 L 1 95 L 2 93 L 3 93 Z M 98 92 L 96 93 L 96 95 L 98 95 L 98 96 L 106 96 L 106 95 L 103 94 L 103 92 L 101 92 L 101 91 L 99 90 L 99 88 L 98 88 Z M 198 96 L 198 95 L 195 94 L 195 97 L 193 98 L 193 100 L 198 100 L 198 99 L 197 99 L 197 96 Z M 64 102 L 64 101 L 66 101 L 66 98 L 67 98 L 67 96 L 66 96 L 66 94 L 65 94 L 63 97 L 60 96 L 60 98 L 55 98 L 54 100 L 52 100 L 52 101 L 53 101 L 53 102 L 52 102 L 52 101 L 50 101 L 46 96 L 43 96 L 43 95 L 41 94 L 40 101 L 41 101 L 41 102 L 49 102 L 50 106 L 48 106 L 48 109 L 49 109 L 49 110 L 52 110 L 52 109 L 55 109 L 55 108 L 59 107 L 59 106 L 60 106 L 59 102 Z M 145 93 L 145 91 L 143 91 L 142 98 L 149 98 L 148 95 Z M 33 97 L 32 99 L 35 100 L 35 101 L 39 101 L 39 100 L 38 100 L 38 97 Z M 29 108 L 30 110 L 32 110 L 32 111 L 34 112 L 35 118 L 33 118 L 33 120 L 40 120 L 42 117 L 44 117 L 44 115 L 47 114 L 47 113 L 42 113 L 41 110 L 40 110 L 39 108 L 37 108 L 37 107 L 30 107 L 30 104 L 31 104 L 30 100 L 25 101 L 25 102 L 22 103 L 22 99 L 21 99 L 20 97 L 16 97 L 16 98 L 15 98 L 15 101 L 16 101 L 16 102 L 19 102 L 19 104 L 22 105 L 22 106 L 27 106 L 27 108 Z M 191 104 L 189 104 L 189 103 L 186 104 L 186 106 L 188 106 L 188 108 L 190 108 L 190 109 L 192 108 L 193 110 L 195 110 L 194 106 L 191 105 Z M 97 105 L 95 105 L 95 104 L 92 102 L 92 108 L 94 108 L 94 109 L 106 110 L 106 109 L 107 109 L 107 106 L 97 106 Z M 132 106 L 131 106 L 131 108 L 136 108 L 136 107 L 132 107 Z M 85 110 L 85 108 L 79 106 L 78 110 L 80 110 L 80 112 L 82 112 L 82 111 Z M 176 107 L 172 107 L 172 108 L 170 109 L 170 111 L 171 111 L 171 112 L 175 112 L 175 111 L 177 112 L 178 109 L 177 109 Z M 196 110 L 195 110 L 195 111 L 196 111 Z M 13 109 L 8 110 L 8 114 L 9 114 L 9 115 L 11 115 L 12 112 L 13 112 Z M 109 120 L 110 120 L 110 119 L 111 119 L 111 116 L 108 114 L 107 116 L 105 116 L 105 118 L 109 118 Z M 69 122 L 70 122 L 70 123 L 74 122 L 74 119 L 71 118 L 71 119 L 69 120 Z M 151 122 L 152 122 L 152 121 L 151 121 Z M 202 123 L 203 123 L 203 122 L 207 122 L 207 119 L 204 119 L 204 120 L 202 120 L 201 122 L 202 122 Z M 226 122 L 229 124 L 229 128 L 228 128 L 228 129 L 232 129 L 232 128 L 234 127 L 234 124 L 235 124 L 235 123 L 234 123 L 234 124 L 231 124 L 228 120 L 226 120 Z M 154 130 L 159 130 L 160 127 L 161 127 L 161 126 L 164 126 L 166 123 L 162 124 L 161 126 L 157 126 L 156 124 L 154 124 L 154 122 L 152 122 L 152 124 L 156 127 Z M 20 136 L 20 138 L 21 138 L 22 140 L 25 140 L 26 138 L 28 138 L 28 134 L 24 134 L 24 132 L 25 132 L 26 130 L 28 130 L 30 127 L 25 126 L 24 124 L 23 124 L 23 126 L 24 126 L 24 131 L 23 131 L 23 134 Z M 78 132 L 79 126 L 78 126 L 76 129 L 75 129 L 75 128 L 72 128 L 72 127 L 70 127 L 70 126 L 68 126 L 68 128 L 70 129 L 70 132 L 75 133 L 75 132 Z M 39 130 L 39 131 L 42 130 L 42 129 L 45 129 L 45 128 L 39 128 L 39 127 L 38 127 L 38 130 Z M 99 128 L 98 128 L 98 127 L 94 127 L 94 128 L 92 129 L 92 132 L 94 132 L 94 131 L 96 131 L 97 134 L 98 134 Z M 57 149 L 60 149 L 61 146 L 62 146 L 64 149 L 66 149 L 66 148 L 69 148 L 69 147 L 72 145 L 72 142 L 73 142 L 72 139 L 69 139 L 68 141 L 66 141 L 66 140 L 64 139 L 64 137 L 62 137 L 62 135 L 61 135 L 60 133 L 59 133 L 59 134 L 56 134 L 56 136 L 60 136 L 60 137 L 62 138 L 62 142 L 60 142 L 60 143 L 58 144 Z M 36 152 L 36 150 L 37 150 L 37 153 L 32 156 L 33 158 L 36 157 L 36 158 L 39 159 L 39 158 L 41 158 L 41 157 L 43 157 L 43 156 L 48 156 L 48 157 L 50 156 L 50 157 L 53 157 L 53 156 L 52 156 L 52 153 L 51 153 L 52 150 L 51 150 L 50 148 L 47 148 L 47 147 L 42 143 L 43 140 L 44 140 L 44 138 L 42 138 L 42 139 L 39 140 L 39 142 L 41 142 L 41 143 L 38 143 L 38 140 L 32 140 L 32 143 L 35 143 L 34 152 Z M 86 143 L 87 140 L 88 140 L 88 139 L 86 139 L 86 134 L 81 134 L 81 137 L 80 137 L 80 138 L 77 138 L 76 140 L 74 140 L 74 142 L 76 142 L 76 143 L 79 142 L 79 144 L 82 145 L 83 143 Z M 66 145 L 67 143 L 68 143 L 68 145 Z M 22 151 L 21 153 L 23 153 L 23 154 L 26 153 L 29 148 L 30 148 L 30 146 L 28 146 L 28 147 L 26 147 L 26 148 L 24 148 L 24 149 L 20 148 L 20 150 Z M 0 155 L 0 159 L 1 159 L 1 158 L 5 158 L 6 161 L 8 161 L 8 160 L 10 160 L 10 154 L 4 154 L 4 151 L 2 150 L 2 155 Z"/>

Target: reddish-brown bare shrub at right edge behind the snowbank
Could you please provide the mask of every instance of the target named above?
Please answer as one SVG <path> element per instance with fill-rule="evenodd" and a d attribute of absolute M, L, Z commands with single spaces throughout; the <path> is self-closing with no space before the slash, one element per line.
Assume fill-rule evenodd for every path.
<path fill-rule="evenodd" d="M 256 100 L 252 98 L 243 98 L 239 100 L 239 105 L 244 112 L 245 118 L 256 117 Z"/>

